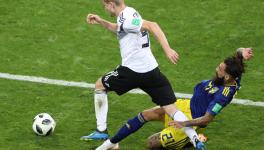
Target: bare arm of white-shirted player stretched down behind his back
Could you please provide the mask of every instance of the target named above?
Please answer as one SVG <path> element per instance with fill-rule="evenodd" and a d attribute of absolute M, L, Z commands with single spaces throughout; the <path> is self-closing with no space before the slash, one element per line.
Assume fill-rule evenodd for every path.
<path fill-rule="evenodd" d="M 168 59 L 173 64 L 177 63 L 179 59 L 178 53 L 170 47 L 164 32 L 161 30 L 161 28 L 156 22 L 144 20 L 141 30 L 148 30 L 150 33 L 152 33 L 155 38 L 159 41 Z"/>

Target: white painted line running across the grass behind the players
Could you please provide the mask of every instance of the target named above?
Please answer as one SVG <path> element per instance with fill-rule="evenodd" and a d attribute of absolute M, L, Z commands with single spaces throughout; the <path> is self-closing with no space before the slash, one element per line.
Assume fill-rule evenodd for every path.
<path fill-rule="evenodd" d="M 90 84 L 90 83 L 86 83 L 86 82 L 55 80 L 55 79 L 48 79 L 48 78 L 44 78 L 44 77 L 13 75 L 13 74 L 9 74 L 9 73 L 0 73 L 0 78 L 10 79 L 10 80 L 19 80 L 19 81 L 28 81 L 28 82 L 34 82 L 34 83 L 70 86 L 70 87 L 94 88 L 94 84 Z M 143 92 L 140 89 L 131 90 L 131 91 L 129 91 L 129 93 L 146 94 L 145 92 Z M 184 94 L 184 93 L 175 93 L 175 95 L 179 98 L 191 98 L 192 97 L 191 94 Z M 264 107 L 264 102 L 254 102 L 254 101 L 248 100 L 248 99 L 233 99 L 232 103 L 240 104 L 240 105 Z"/>

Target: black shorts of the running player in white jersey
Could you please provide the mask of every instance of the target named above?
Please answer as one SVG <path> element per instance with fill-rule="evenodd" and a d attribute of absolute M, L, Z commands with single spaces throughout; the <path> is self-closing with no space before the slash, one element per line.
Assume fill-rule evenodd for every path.
<path fill-rule="evenodd" d="M 127 67 L 119 66 L 104 75 L 102 83 L 107 91 L 115 91 L 118 95 L 140 88 L 160 106 L 173 104 L 176 101 L 171 84 L 158 67 L 146 73 L 137 73 Z"/>

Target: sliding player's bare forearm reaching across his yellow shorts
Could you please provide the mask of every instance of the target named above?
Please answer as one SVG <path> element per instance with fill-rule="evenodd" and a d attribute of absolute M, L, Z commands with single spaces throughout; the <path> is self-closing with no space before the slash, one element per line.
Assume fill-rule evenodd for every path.
<path fill-rule="evenodd" d="M 212 122 L 213 119 L 214 119 L 214 116 L 207 112 L 205 113 L 203 117 L 184 121 L 184 122 L 171 121 L 169 125 L 174 126 L 175 128 L 183 128 L 183 127 L 191 127 L 191 126 L 206 126 L 210 122 Z"/>

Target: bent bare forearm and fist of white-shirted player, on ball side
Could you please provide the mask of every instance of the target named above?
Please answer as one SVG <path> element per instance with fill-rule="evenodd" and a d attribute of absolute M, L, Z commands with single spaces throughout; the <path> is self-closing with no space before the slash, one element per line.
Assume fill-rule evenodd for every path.
<path fill-rule="evenodd" d="M 95 14 L 88 14 L 86 17 L 86 21 L 88 24 L 99 24 L 102 27 L 112 31 L 116 32 L 117 30 L 117 24 L 109 22 L 107 20 L 102 19 L 100 16 L 95 15 Z"/>

